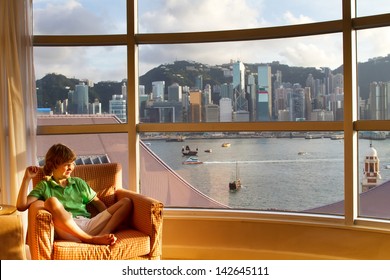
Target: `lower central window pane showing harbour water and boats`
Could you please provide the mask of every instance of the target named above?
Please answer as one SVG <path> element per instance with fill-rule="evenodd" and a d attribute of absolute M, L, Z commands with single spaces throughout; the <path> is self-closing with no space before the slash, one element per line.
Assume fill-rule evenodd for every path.
<path fill-rule="evenodd" d="M 322 206 L 344 198 L 343 140 L 332 132 L 145 134 L 141 139 L 165 164 L 143 156 L 141 192 L 156 181 L 154 196 L 162 188 L 174 189 L 168 207 L 320 213 Z"/>

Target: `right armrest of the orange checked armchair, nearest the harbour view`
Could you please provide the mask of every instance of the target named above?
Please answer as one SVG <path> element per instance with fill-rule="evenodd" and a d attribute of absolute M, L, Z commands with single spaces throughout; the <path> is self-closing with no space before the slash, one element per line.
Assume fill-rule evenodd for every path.
<path fill-rule="evenodd" d="M 132 200 L 131 226 L 150 236 L 150 257 L 161 256 L 164 205 L 156 199 L 126 189 L 117 189 L 116 197 L 118 200 L 123 197 Z"/>

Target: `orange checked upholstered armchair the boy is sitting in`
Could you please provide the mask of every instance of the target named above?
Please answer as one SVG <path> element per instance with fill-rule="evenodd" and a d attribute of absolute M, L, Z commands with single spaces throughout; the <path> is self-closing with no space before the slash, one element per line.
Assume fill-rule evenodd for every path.
<path fill-rule="evenodd" d="M 155 199 L 123 189 L 120 164 L 79 165 L 75 167 L 72 176 L 84 179 L 107 206 L 117 199 L 129 197 L 133 202 L 132 216 L 115 233 L 118 240 L 113 246 L 57 240 L 54 239 L 51 214 L 43 208 L 43 201 L 36 201 L 28 210 L 27 244 L 32 259 L 155 260 L 161 258 L 163 205 Z M 40 170 L 33 180 L 33 185 L 35 186 L 42 178 L 43 173 Z M 90 211 L 96 213 L 92 208 Z"/>

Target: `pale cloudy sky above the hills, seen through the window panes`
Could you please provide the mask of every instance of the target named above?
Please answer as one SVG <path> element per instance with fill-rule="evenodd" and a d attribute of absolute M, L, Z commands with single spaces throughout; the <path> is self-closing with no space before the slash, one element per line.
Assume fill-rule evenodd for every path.
<path fill-rule="evenodd" d="M 125 0 L 33 0 L 36 35 L 124 34 Z M 375 10 L 376 9 L 376 10 Z M 388 11 L 384 10 L 388 9 Z M 341 0 L 142 0 L 139 33 L 188 32 L 284 26 L 341 17 Z M 364 12 L 362 12 L 364 11 Z M 388 0 L 358 0 L 358 15 L 390 12 Z M 390 28 L 387 28 L 387 34 Z M 386 56 L 390 35 L 359 31 L 358 59 Z M 267 41 L 141 45 L 139 74 L 176 60 L 219 65 L 279 61 L 290 66 L 342 64 L 341 34 Z M 123 46 L 34 49 L 36 78 L 47 73 L 98 81 L 126 78 Z"/>

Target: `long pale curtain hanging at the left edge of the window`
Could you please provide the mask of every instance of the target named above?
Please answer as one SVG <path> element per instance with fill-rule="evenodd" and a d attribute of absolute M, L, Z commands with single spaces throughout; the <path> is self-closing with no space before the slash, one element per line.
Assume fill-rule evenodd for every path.
<path fill-rule="evenodd" d="M 16 204 L 24 170 L 36 163 L 35 108 L 32 0 L 1 0 L 1 204 Z"/>

